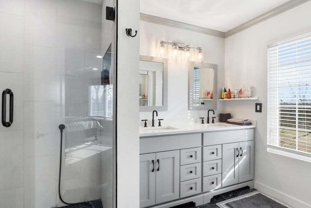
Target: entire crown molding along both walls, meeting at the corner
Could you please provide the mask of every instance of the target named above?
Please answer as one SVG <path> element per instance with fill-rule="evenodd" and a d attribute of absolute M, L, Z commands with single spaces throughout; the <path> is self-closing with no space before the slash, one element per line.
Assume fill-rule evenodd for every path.
<path fill-rule="evenodd" d="M 156 17 L 156 16 L 152 16 L 152 15 L 147 15 L 147 14 L 143 14 L 140 13 L 140 20 L 143 21 L 149 21 L 152 23 L 156 23 L 156 24 L 162 24 L 162 25 L 166 25 L 166 26 L 170 26 L 170 27 L 175 27 L 175 28 L 179 28 L 179 29 L 184 29 L 184 30 L 190 30 L 190 31 L 194 31 L 194 32 L 198 32 L 198 33 L 203 33 L 206 35 L 211 35 L 211 36 L 216 36 L 216 37 L 220 37 L 220 38 L 227 38 L 229 36 L 232 36 L 236 33 L 239 33 L 249 27 L 252 27 L 264 20 L 270 19 L 272 17 L 275 17 L 276 15 L 279 15 L 283 12 L 286 12 L 296 6 L 299 6 L 300 4 L 303 4 L 305 2 L 308 2 L 310 0 L 290 0 L 262 15 L 259 15 L 258 17 L 251 19 L 247 22 L 244 22 L 243 24 L 228 30 L 227 32 L 221 32 L 218 30 L 212 30 L 209 28 L 205 28 L 205 27 L 200 27 L 200 26 L 196 26 L 196 25 L 192 25 L 192 24 L 188 24 L 188 23 L 184 23 L 184 22 L 180 22 L 180 21 L 175 21 L 172 19 L 165 19 L 165 18 L 160 18 L 160 17 Z"/>

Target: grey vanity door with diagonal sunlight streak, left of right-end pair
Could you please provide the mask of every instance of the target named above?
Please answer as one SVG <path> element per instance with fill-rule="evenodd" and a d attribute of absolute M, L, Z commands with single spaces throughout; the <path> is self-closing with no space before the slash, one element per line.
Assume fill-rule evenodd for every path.
<path fill-rule="evenodd" d="M 223 145 L 222 187 L 239 183 L 239 143 Z"/>

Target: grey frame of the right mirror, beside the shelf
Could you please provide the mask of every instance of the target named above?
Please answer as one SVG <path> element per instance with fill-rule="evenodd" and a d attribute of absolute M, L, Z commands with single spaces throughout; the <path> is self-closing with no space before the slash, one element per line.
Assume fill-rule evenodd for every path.
<path fill-rule="evenodd" d="M 214 69 L 214 85 L 213 85 L 213 101 L 212 104 L 194 106 L 192 103 L 192 92 L 193 92 L 193 68 L 194 67 L 205 67 Z M 189 63 L 189 110 L 216 110 L 217 109 L 217 64 L 211 63 L 200 63 L 200 62 L 190 62 Z"/>

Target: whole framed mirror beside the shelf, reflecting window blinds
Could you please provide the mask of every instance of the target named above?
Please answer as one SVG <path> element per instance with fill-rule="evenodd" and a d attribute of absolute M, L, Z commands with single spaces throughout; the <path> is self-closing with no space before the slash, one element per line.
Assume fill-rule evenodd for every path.
<path fill-rule="evenodd" d="M 216 93 L 214 94 L 216 90 Z M 217 109 L 217 64 L 190 62 L 189 110 Z"/>

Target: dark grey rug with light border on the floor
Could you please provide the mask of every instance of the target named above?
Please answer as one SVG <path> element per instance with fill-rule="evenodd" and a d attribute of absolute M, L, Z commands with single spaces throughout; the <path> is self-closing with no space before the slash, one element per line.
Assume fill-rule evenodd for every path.
<path fill-rule="evenodd" d="M 216 204 L 219 208 L 291 208 L 271 196 L 254 191 Z"/>

